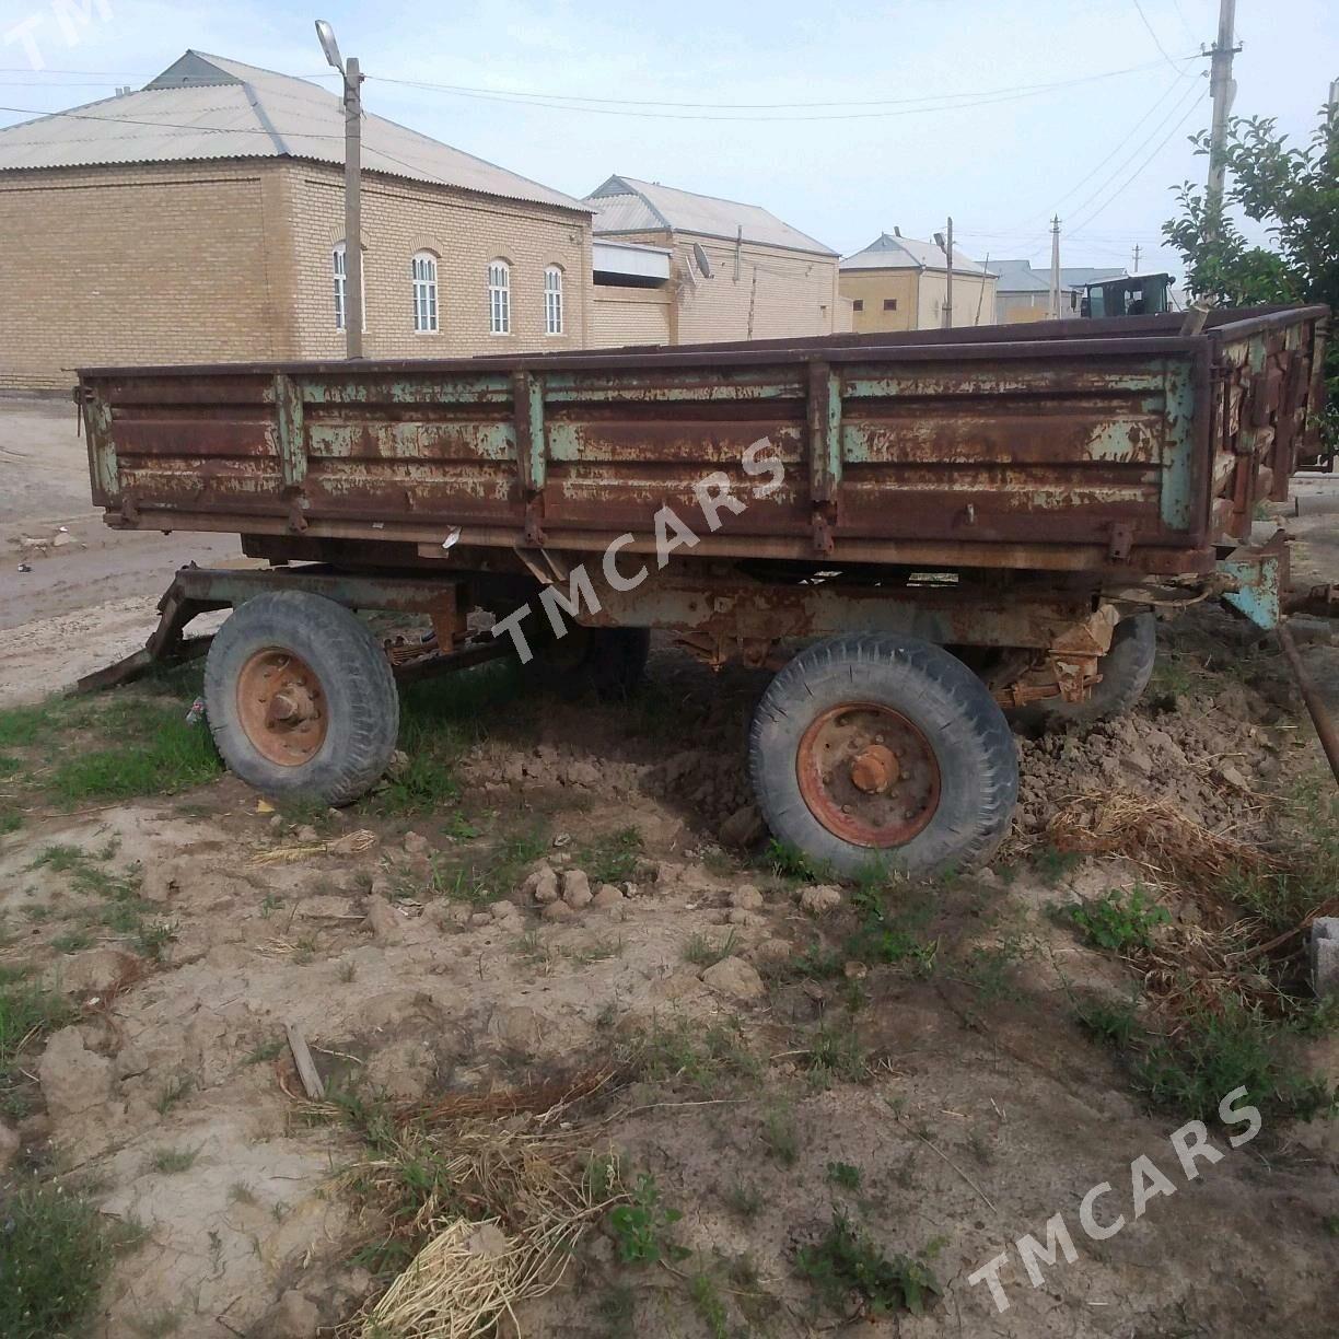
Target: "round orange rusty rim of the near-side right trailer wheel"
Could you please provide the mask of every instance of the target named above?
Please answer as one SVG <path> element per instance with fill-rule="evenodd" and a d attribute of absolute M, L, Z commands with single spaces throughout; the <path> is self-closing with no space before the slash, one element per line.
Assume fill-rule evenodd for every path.
<path fill-rule="evenodd" d="M 856 846 L 902 846 L 939 809 L 929 740 L 877 703 L 844 703 L 818 716 L 799 740 L 795 775 L 814 818 Z"/>

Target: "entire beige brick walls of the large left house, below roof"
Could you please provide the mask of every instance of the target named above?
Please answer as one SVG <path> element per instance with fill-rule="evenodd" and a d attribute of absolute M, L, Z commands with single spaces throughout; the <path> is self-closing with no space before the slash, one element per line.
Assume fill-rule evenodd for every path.
<path fill-rule="evenodd" d="M 590 228 L 570 210 L 363 183 L 370 358 L 582 348 Z M 98 364 L 339 358 L 331 249 L 339 169 L 292 161 L 0 174 L 0 390 L 63 388 Z M 414 331 L 410 261 L 438 256 L 438 332 Z M 487 329 L 487 265 L 511 265 L 511 333 Z M 544 270 L 564 272 L 564 333 Z"/>

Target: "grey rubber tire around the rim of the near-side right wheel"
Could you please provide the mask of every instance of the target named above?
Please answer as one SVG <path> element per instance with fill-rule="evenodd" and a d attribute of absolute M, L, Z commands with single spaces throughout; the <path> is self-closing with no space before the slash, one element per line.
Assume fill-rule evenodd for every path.
<path fill-rule="evenodd" d="M 829 704 L 815 686 L 822 688 L 844 671 L 849 682 L 856 683 L 858 667 L 898 667 L 898 679 L 905 678 L 907 671 L 919 678 L 927 688 L 925 696 L 935 695 L 939 699 L 936 712 L 941 716 L 940 724 L 925 731 L 936 754 L 941 749 L 963 749 L 973 754 L 975 803 L 967 811 L 953 814 L 953 807 L 959 806 L 952 797 L 941 797 L 941 813 L 948 821 L 941 821 L 940 814 L 936 814 L 924 833 L 912 838 L 907 846 L 881 853 L 846 844 L 826 833 L 799 797 L 798 783 L 790 786 L 789 774 L 795 767 L 794 754 L 777 755 L 778 722 L 798 724 L 802 730 L 815 710 Z M 909 684 L 904 683 L 901 687 L 907 688 Z M 898 710 L 913 716 L 913 706 L 908 702 Z M 750 730 L 749 754 L 754 791 L 771 832 L 815 854 L 806 837 L 811 837 L 811 829 L 817 826 L 826 836 L 822 841 L 826 848 L 822 858 L 840 873 L 856 873 L 870 860 L 881 860 L 890 868 L 915 873 L 980 864 L 1003 841 L 1018 803 L 1018 751 L 995 699 L 960 660 L 943 648 L 915 637 L 849 633 L 801 652 L 773 679 L 759 702 Z M 783 775 L 771 769 L 789 769 L 789 773 Z M 929 840 L 923 841 L 927 836 Z M 912 853 L 915 858 L 908 858 Z"/>

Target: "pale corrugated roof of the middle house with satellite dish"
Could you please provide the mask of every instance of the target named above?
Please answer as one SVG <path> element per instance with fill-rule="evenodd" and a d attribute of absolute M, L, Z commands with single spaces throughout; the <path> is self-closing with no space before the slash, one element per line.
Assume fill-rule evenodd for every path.
<path fill-rule="evenodd" d="M 585 202 L 596 212 L 596 233 L 699 233 L 734 241 L 743 229 L 746 242 L 782 246 L 817 256 L 837 253 L 813 237 L 783 224 L 761 205 L 744 205 L 716 195 L 699 195 L 635 177 L 611 177 Z"/>

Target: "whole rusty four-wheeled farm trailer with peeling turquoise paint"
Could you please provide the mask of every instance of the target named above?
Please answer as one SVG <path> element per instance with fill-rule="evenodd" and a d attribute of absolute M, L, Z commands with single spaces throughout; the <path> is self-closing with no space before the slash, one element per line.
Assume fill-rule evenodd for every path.
<path fill-rule="evenodd" d="M 111 526 L 236 532 L 111 682 L 206 649 L 221 755 L 347 803 L 396 678 L 498 655 L 632 691 L 649 629 L 777 670 L 750 767 L 771 832 L 838 873 L 990 857 L 1007 711 L 1127 710 L 1153 609 L 1279 621 L 1327 309 L 1074 320 L 458 360 L 98 368 L 75 391 Z M 423 616 L 384 645 L 362 611 Z"/>

